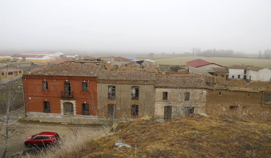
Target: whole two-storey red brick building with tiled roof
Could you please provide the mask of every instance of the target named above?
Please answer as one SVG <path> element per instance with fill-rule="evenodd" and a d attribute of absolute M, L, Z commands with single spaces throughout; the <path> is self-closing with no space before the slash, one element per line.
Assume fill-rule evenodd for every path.
<path fill-rule="evenodd" d="M 96 60 L 71 60 L 23 74 L 27 113 L 97 115 L 96 78 L 104 68 Z"/>

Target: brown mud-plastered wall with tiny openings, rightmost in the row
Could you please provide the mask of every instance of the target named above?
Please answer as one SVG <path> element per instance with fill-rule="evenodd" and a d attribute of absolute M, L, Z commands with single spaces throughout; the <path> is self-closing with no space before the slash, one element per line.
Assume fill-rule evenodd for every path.
<path fill-rule="evenodd" d="M 221 92 L 221 95 L 219 93 Z M 248 96 L 249 94 L 249 96 Z M 262 104 L 263 92 L 247 92 L 233 90 L 207 90 L 206 114 L 217 114 L 223 112 L 223 107 L 227 113 L 235 113 L 230 106 L 238 106 L 245 113 L 260 113 L 271 110 L 270 106 Z"/>

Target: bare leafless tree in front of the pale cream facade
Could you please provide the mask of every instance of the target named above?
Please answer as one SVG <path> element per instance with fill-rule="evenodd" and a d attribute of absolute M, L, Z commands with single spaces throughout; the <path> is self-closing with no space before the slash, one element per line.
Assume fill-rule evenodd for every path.
<path fill-rule="evenodd" d="M 205 92 L 194 89 L 172 89 L 168 103 L 172 107 L 172 115 L 183 117 L 202 111 L 205 102 Z M 203 108 L 203 109 L 202 109 Z"/>

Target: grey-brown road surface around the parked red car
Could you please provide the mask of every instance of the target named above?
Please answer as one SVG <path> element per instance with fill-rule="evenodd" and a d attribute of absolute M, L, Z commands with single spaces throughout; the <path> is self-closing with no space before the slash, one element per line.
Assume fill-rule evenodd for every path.
<path fill-rule="evenodd" d="M 42 131 L 57 132 L 60 135 L 61 141 L 64 141 L 67 136 L 71 136 L 71 133 L 67 131 L 66 126 L 53 126 L 53 125 L 28 125 L 27 132 L 21 135 L 19 138 L 12 138 L 13 140 L 8 141 L 8 148 L 6 157 L 20 153 L 23 150 L 29 149 L 24 145 L 24 140 L 26 137 L 40 133 Z M 91 127 L 80 127 L 79 131 L 91 130 Z M 0 156 L 3 154 L 3 142 L 0 142 Z"/>

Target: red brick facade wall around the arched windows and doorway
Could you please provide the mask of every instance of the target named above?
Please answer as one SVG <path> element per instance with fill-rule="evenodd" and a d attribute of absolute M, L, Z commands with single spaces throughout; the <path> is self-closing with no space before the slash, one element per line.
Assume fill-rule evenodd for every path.
<path fill-rule="evenodd" d="M 42 81 L 48 81 L 48 90 L 42 89 Z M 23 76 L 26 111 L 39 115 L 62 115 L 63 102 L 72 102 L 74 114 L 82 114 L 82 104 L 89 104 L 89 114 L 95 115 L 92 109 L 97 109 L 96 77 L 60 77 L 60 76 Z M 70 82 L 73 98 L 62 98 L 64 82 Z M 82 92 L 82 82 L 88 83 L 88 92 Z M 50 102 L 51 113 L 43 113 L 43 102 Z M 61 107 L 62 103 L 62 107 Z"/>

